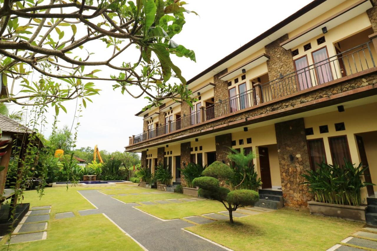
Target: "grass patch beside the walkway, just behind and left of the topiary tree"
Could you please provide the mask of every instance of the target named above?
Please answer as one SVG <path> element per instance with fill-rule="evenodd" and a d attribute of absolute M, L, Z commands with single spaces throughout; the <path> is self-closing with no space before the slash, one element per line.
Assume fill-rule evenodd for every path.
<path fill-rule="evenodd" d="M 225 209 L 224 205 L 215 200 L 200 200 L 193 202 L 171 203 L 161 205 L 143 205 L 137 206 L 137 208 L 164 220 L 178 219 L 199 214 L 214 213 L 224 211 Z"/>

